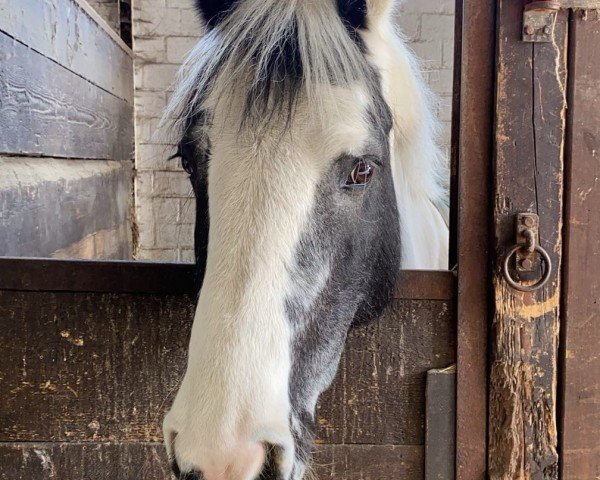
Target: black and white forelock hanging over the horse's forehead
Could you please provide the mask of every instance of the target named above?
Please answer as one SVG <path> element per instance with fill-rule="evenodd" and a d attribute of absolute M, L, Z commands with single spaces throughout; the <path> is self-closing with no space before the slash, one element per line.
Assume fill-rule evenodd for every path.
<path fill-rule="evenodd" d="M 289 123 L 299 101 L 326 118 L 336 87 L 363 85 L 376 98 L 378 78 L 355 30 L 362 23 L 339 8 L 337 0 L 235 2 L 184 62 L 165 118 L 181 134 L 198 112 L 229 109 L 240 127 L 261 128 Z"/>

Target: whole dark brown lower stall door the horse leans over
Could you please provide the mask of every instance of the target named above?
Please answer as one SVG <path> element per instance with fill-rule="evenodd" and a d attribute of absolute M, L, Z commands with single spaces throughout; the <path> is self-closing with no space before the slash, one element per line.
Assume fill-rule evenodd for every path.
<path fill-rule="evenodd" d="M 161 423 L 194 267 L 0 259 L 0 479 L 168 480 Z M 403 272 L 317 409 L 316 478 L 422 480 L 426 379 L 455 362 L 454 275 Z M 435 433 L 435 432 L 434 432 Z"/>

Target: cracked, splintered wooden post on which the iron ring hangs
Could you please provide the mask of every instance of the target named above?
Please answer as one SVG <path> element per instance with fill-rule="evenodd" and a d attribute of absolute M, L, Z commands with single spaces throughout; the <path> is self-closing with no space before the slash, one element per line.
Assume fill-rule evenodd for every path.
<path fill-rule="evenodd" d="M 495 314 L 490 372 L 489 475 L 558 477 L 556 381 L 561 269 L 567 14 L 555 43 L 521 42 L 525 2 L 499 1 L 494 205 Z M 554 265 L 534 294 L 501 274 L 515 243 L 515 216 L 540 216 L 540 243 Z"/>

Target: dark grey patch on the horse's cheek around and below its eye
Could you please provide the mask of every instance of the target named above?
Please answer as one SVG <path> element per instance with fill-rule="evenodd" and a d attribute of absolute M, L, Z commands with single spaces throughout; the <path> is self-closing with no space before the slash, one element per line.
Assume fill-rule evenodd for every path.
<path fill-rule="evenodd" d="M 319 184 L 312 220 L 288 268 L 290 424 L 298 469 L 310 459 L 316 401 L 335 377 L 348 330 L 387 304 L 399 268 L 400 225 L 388 144 L 391 120 L 384 107 L 372 112 L 373 145 L 366 152 L 375 153 L 382 163 L 377 175 L 364 192 L 349 192 L 341 185 L 356 159 L 347 156 L 334 163 Z"/>

